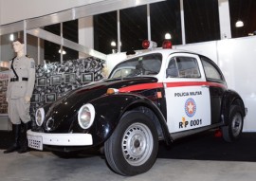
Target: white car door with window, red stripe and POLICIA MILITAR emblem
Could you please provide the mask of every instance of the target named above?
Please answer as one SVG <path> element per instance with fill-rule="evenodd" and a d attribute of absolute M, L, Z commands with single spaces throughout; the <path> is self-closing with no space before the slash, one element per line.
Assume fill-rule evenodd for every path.
<path fill-rule="evenodd" d="M 210 125 L 210 90 L 197 55 L 169 56 L 164 77 L 167 125 L 170 133 Z"/>

